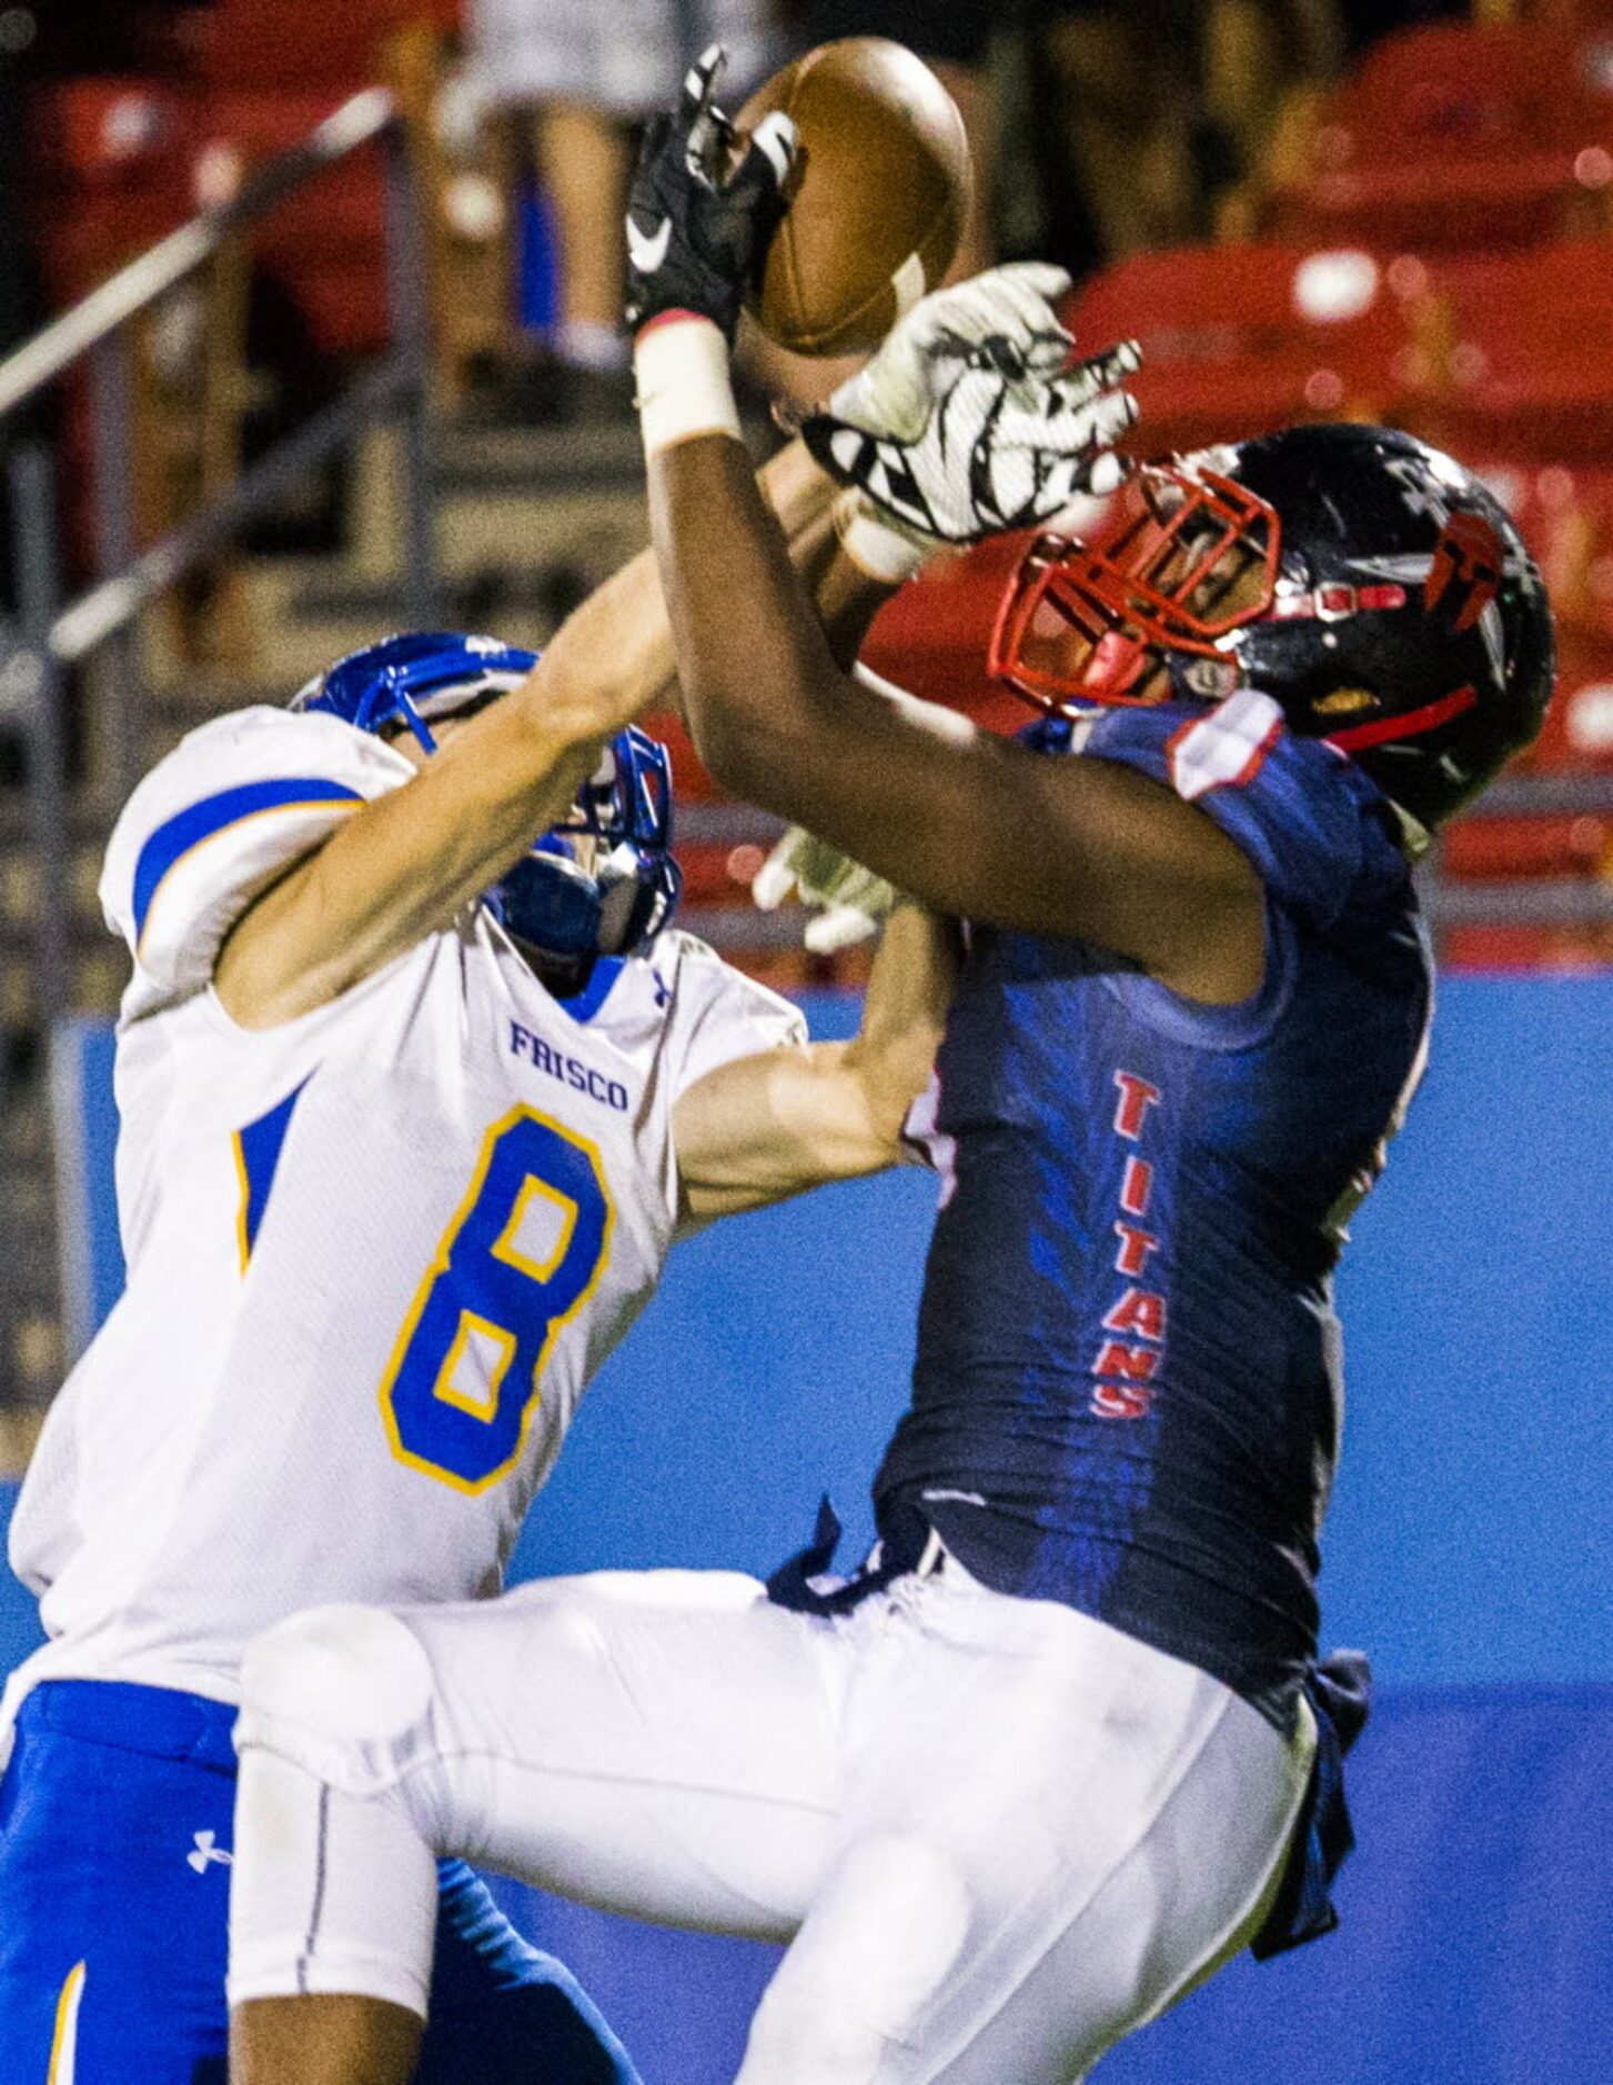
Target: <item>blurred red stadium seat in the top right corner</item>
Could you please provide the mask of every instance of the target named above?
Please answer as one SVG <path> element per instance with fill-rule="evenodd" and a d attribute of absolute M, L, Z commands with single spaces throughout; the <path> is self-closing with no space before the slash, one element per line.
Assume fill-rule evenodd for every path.
<path fill-rule="evenodd" d="M 1269 208 L 1284 238 L 1444 250 L 1600 229 L 1609 46 L 1534 25 L 1384 38 L 1327 98 L 1302 158 Z"/>

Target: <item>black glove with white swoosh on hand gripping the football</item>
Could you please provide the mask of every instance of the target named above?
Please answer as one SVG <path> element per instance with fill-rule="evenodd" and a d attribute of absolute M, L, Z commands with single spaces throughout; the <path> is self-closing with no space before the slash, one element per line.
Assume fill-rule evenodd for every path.
<path fill-rule="evenodd" d="M 663 311 L 696 311 L 727 340 L 746 290 L 761 277 L 767 242 L 786 208 L 796 127 L 773 113 L 740 165 L 725 173 L 736 131 L 713 106 L 725 65 L 713 44 L 684 79 L 673 115 L 652 117 L 627 196 L 627 325 Z"/>

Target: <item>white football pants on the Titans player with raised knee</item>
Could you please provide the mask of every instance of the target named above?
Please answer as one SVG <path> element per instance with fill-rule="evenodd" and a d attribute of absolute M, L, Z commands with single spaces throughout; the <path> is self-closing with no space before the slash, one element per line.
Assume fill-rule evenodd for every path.
<path fill-rule="evenodd" d="M 1244 1943 L 1315 1745 L 954 1560 L 846 1616 L 600 1572 L 248 1653 L 233 2004 L 425 2012 L 438 1856 L 790 1941 L 742 2085 L 1071 2085 Z"/>

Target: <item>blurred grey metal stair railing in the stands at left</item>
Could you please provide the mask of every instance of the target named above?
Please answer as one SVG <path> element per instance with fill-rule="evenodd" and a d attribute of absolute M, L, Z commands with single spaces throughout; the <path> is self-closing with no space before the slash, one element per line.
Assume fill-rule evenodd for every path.
<path fill-rule="evenodd" d="M 375 146 L 383 165 L 388 350 L 302 427 L 265 450 L 221 494 L 138 550 L 129 329 L 227 242 L 352 152 Z M 354 94 L 300 144 L 252 169 L 225 202 L 200 211 L 150 252 L 119 269 L 79 304 L 0 363 L 0 423 L 79 363 L 90 365 L 96 582 L 63 598 L 60 525 L 52 461 L 33 438 L 8 459 L 8 511 L 17 617 L 0 628 L 0 721 L 27 746 L 29 832 L 40 899 L 35 1005 L 50 1024 L 71 1005 L 65 776 L 65 673 L 110 653 L 106 715 L 110 796 L 121 801 L 144 767 L 146 701 L 140 613 L 204 565 L 238 530 L 298 480 L 379 421 L 402 436 L 402 586 L 411 619 L 429 628 L 436 607 L 433 507 L 427 459 L 429 311 L 423 208 L 406 125 L 386 88 Z"/>

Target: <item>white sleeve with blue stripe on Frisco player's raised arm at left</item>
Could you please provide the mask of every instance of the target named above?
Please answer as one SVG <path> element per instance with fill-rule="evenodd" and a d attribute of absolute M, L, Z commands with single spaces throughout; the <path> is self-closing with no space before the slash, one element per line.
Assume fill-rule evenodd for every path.
<path fill-rule="evenodd" d="M 340 717 L 240 709 L 190 732 L 135 788 L 100 880 L 129 945 L 127 1013 L 204 990 L 225 934 L 294 861 L 411 763 Z"/>

